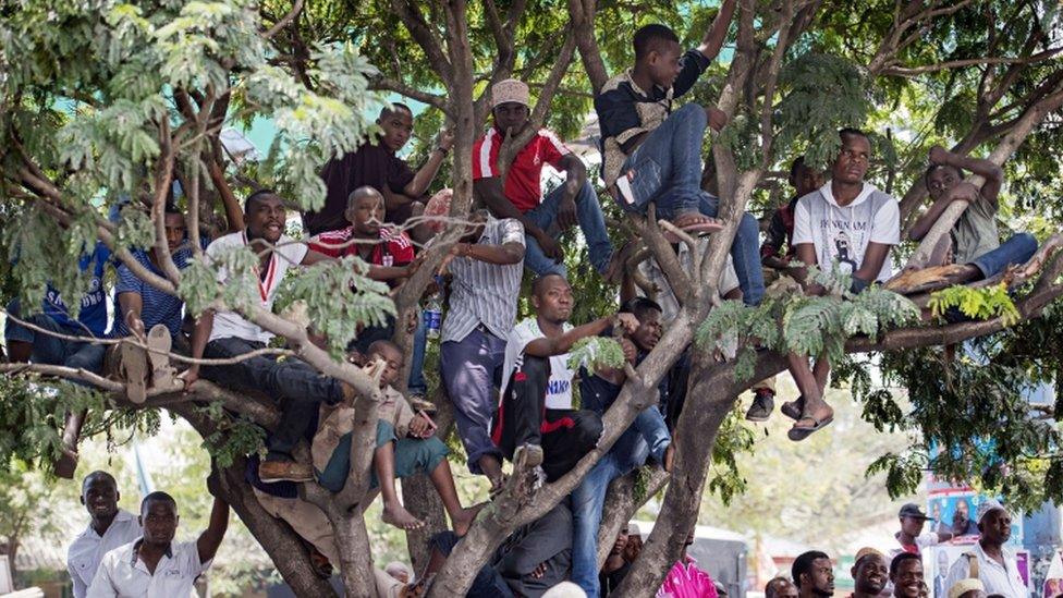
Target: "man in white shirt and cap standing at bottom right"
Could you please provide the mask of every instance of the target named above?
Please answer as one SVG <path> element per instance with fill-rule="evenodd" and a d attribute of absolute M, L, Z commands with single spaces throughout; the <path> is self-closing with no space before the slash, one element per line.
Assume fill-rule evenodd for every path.
<path fill-rule="evenodd" d="M 986 594 L 1027 598 L 1029 589 L 1018 573 L 1015 552 L 1004 546 L 1012 536 L 1012 517 L 1000 502 L 986 499 L 978 504 L 978 544 L 952 564 L 945 587 L 975 578 L 981 581 Z"/>

